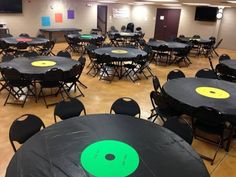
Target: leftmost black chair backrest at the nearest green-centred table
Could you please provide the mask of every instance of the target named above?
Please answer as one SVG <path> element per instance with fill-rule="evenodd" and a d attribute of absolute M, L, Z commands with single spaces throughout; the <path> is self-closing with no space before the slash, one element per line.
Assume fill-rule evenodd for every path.
<path fill-rule="evenodd" d="M 14 151 L 16 148 L 14 141 L 23 144 L 34 134 L 39 132 L 41 128 L 45 128 L 43 121 L 33 114 L 25 114 L 17 118 L 11 125 L 9 131 L 9 139 Z"/>

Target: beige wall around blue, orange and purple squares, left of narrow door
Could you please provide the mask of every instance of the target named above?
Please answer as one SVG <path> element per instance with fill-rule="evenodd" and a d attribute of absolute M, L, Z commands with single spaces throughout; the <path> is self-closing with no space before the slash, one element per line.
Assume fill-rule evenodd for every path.
<path fill-rule="evenodd" d="M 0 22 L 6 23 L 13 35 L 22 32 L 36 35 L 41 26 L 41 16 L 51 17 L 51 27 L 77 27 L 90 32 L 97 25 L 97 6 L 88 7 L 81 1 L 23 0 L 22 14 L 0 14 Z M 52 8 L 54 7 L 54 8 Z M 67 19 L 67 10 L 75 10 L 75 19 Z M 63 23 L 54 23 L 54 13 L 63 14 Z"/>

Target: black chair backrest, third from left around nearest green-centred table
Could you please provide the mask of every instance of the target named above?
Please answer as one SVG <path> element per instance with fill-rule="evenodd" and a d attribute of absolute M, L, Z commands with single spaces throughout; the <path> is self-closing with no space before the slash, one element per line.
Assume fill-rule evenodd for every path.
<path fill-rule="evenodd" d="M 138 103 L 132 98 L 122 97 L 118 98 L 111 106 L 110 113 L 124 114 L 129 116 L 138 116 L 140 118 L 140 107 Z"/>

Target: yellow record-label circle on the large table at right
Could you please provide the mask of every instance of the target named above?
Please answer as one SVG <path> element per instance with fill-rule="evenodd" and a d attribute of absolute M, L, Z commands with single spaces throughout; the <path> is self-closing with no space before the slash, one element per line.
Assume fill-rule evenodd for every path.
<path fill-rule="evenodd" d="M 199 95 L 214 99 L 227 99 L 230 97 L 228 92 L 214 87 L 198 87 L 196 88 L 196 92 Z"/>

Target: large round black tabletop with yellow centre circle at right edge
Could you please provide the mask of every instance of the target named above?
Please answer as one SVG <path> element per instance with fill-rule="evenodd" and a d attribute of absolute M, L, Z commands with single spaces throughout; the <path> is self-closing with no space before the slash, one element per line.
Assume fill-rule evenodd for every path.
<path fill-rule="evenodd" d="M 217 79 L 179 78 L 163 85 L 173 108 L 190 116 L 200 106 L 220 111 L 227 121 L 236 123 L 236 84 Z"/>

